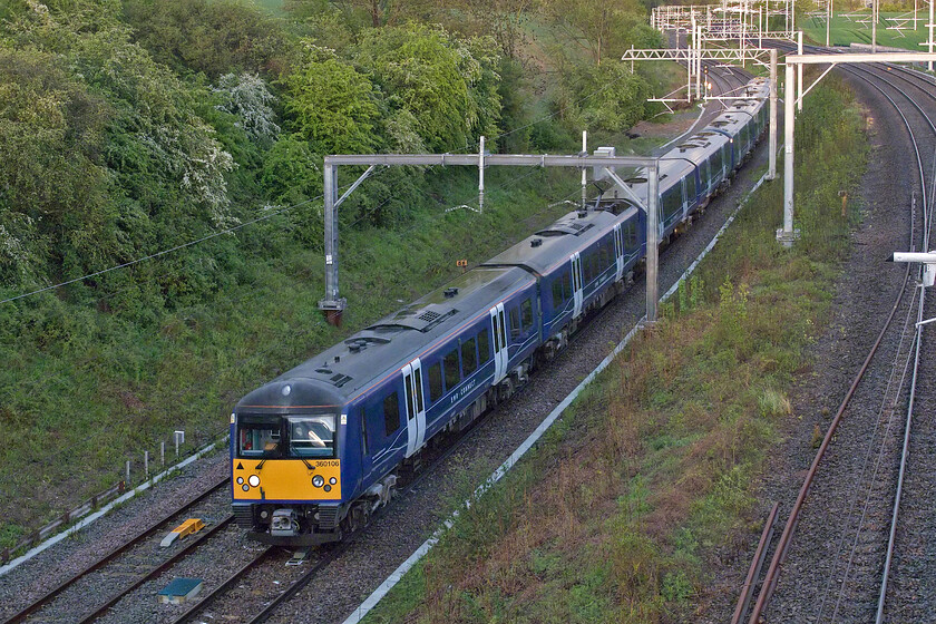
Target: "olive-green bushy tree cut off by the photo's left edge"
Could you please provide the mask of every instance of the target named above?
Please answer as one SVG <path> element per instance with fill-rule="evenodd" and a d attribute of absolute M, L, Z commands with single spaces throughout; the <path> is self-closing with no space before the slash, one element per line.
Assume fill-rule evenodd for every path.
<path fill-rule="evenodd" d="M 41 283 L 39 259 L 96 264 L 117 246 L 99 163 L 110 114 L 53 55 L 0 47 L 0 281 Z"/>

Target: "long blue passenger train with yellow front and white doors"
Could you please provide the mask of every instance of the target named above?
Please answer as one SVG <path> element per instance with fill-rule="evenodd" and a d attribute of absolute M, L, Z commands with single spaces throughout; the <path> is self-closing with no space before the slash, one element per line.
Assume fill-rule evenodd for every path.
<path fill-rule="evenodd" d="M 661 156 L 660 241 L 688 226 L 750 155 L 768 96 L 768 81 L 754 78 Z M 231 415 L 231 497 L 248 537 L 309 547 L 363 527 L 427 448 L 565 349 L 644 261 L 646 173 L 623 182 L 624 196 L 566 214 L 244 396 Z"/>

